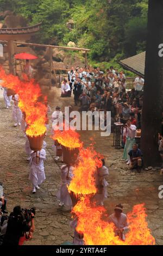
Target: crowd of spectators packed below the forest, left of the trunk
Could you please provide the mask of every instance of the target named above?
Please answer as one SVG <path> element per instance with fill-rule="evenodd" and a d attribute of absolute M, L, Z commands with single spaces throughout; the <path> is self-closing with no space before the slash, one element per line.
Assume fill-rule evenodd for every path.
<path fill-rule="evenodd" d="M 105 72 L 99 68 L 77 66 L 68 71 L 68 79 L 61 85 L 61 96 L 74 95 L 74 104 L 80 111 L 111 111 L 112 122 L 131 124 L 141 129 L 144 80 L 135 78 L 132 88 L 127 88 L 126 75 L 113 66 Z"/>

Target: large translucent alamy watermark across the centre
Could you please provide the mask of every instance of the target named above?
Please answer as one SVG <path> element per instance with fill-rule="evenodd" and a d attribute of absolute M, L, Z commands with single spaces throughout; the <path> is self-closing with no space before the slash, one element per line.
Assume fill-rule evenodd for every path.
<path fill-rule="evenodd" d="M 101 136 L 109 136 L 111 133 L 110 111 L 69 111 L 53 113 L 53 130 L 77 130 L 77 131 L 101 131 Z"/>

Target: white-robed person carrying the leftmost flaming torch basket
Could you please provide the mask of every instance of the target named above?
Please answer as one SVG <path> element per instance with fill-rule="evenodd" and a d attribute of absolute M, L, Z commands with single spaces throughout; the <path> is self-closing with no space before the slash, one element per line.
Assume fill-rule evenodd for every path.
<path fill-rule="evenodd" d="M 43 161 L 46 160 L 45 148 L 46 142 L 44 141 L 43 148 L 40 151 L 37 151 L 37 153 L 33 152 L 31 154 L 29 180 L 32 182 L 33 185 L 33 193 L 36 192 L 36 189 L 40 189 L 39 186 L 46 179 L 43 164 Z"/>

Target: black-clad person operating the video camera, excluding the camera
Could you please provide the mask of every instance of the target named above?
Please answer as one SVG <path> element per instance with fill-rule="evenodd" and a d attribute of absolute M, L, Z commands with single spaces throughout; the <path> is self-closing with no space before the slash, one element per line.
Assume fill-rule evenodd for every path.
<path fill-rule="evenodd" d="M 18 245 L 19 240 L 26 232 L 30 230 L 30 225 L 23 217 L 20 206 L 15 206 L 8 220 L 7 231 L 4 236 L 3 245 Z"/>

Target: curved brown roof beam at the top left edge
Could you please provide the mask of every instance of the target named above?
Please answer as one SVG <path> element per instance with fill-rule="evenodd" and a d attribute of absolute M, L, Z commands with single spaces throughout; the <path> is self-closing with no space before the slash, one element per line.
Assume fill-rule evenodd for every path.
<path fill-rule="evenodd" d="M 23 28 L 1 28 L 0 35 L 31 34 L 40 30 L 41 23 Z"/>

